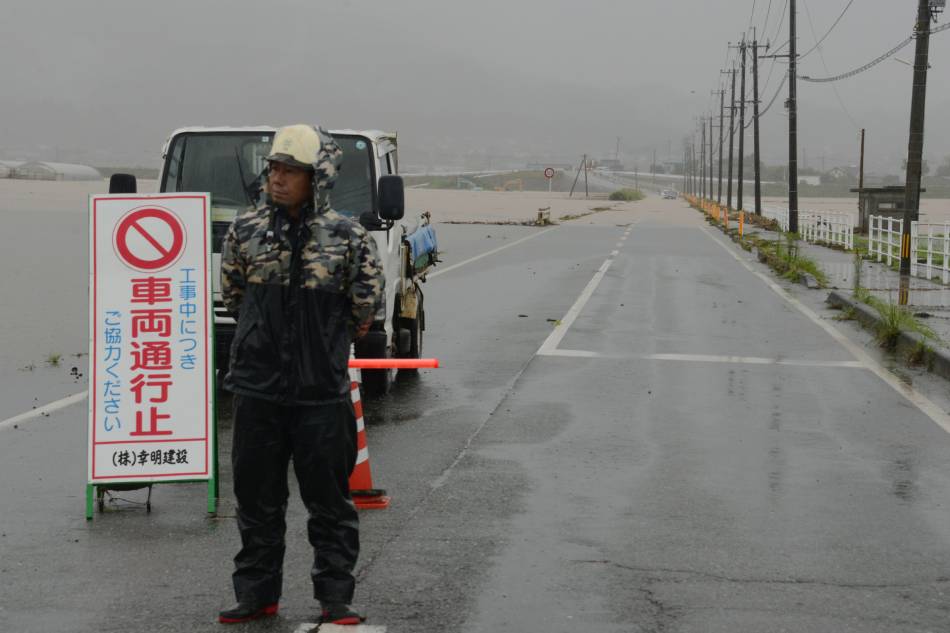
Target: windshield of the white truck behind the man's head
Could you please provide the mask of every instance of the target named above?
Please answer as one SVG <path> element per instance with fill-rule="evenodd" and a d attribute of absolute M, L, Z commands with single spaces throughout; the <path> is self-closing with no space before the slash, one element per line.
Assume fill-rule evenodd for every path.
<path fill-rule="evenodd" d="M 330 206 L 358 218 L 373 210 L 372 145 L 360 136 L 336 135 L 343 150 L 340 173 L 330 191 Z M 254 206 L 256 183 L 266 166 L 273 133 L 187 132 L 168 148 L 163 192 L 211 193 L 212 250 L 221 242 L 231 221 Z"/>

